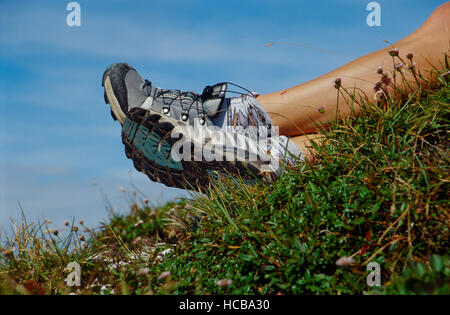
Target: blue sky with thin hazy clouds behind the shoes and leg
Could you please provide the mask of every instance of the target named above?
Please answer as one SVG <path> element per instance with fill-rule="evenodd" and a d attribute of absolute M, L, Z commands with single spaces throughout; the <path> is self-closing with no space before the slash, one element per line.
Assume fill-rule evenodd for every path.
<path fill-rule="evenodd" d="M 121 186 L 154 203 L 185 195 L 125 157 L 103 103 L 109 64 L 128 62 L 164 88 L 232 81 L 272 92 L 401 39 L 445 1 L 378 1 L 381 27 L 366 24 L 368 0 L 78 1 L 72 28 L 69 2 L 0 0 L 0 225 L 19 216 L 18 200 L 30 219 L 95 226 L 107 216 L 100 190 L 117 211 L 127 211 Z"/>

